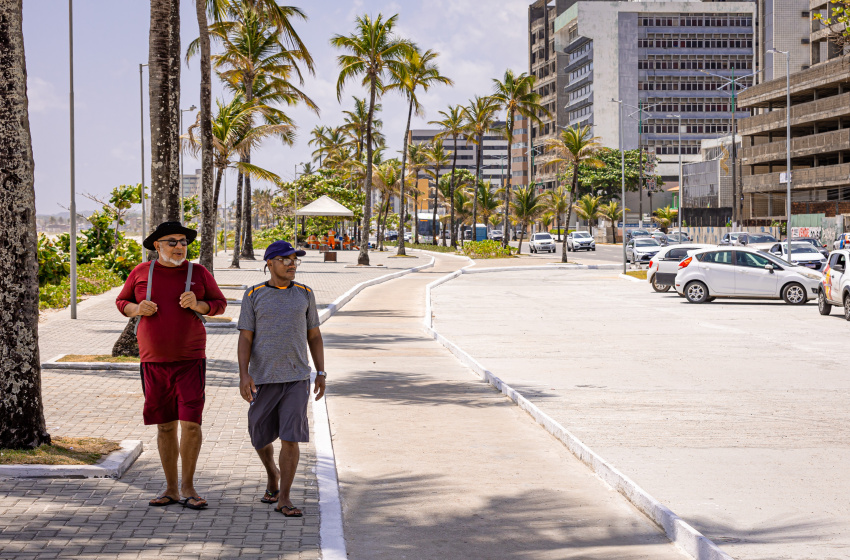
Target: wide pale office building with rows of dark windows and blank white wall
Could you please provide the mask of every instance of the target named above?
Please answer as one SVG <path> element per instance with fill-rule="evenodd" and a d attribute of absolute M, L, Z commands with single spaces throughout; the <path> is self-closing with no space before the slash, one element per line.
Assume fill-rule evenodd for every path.
<path fill-rule="evenodd" d="M 624 147 L 640 143 L 657 158 L 664 182 L 678 184 L 676 115 L 686 162 L 699 159 L 702 140 L 730 133 L 729 88 L 717 76 L 754 72 L 755 10 L 751 2 L 575 2 L 554 26 L 555 49 L 569 61 L 564 124 L 590 125 L 604 146 L 618 147 L 612 100 L 623 100 Z M 646 109 L 641 127 L 639 103 Z"/>

